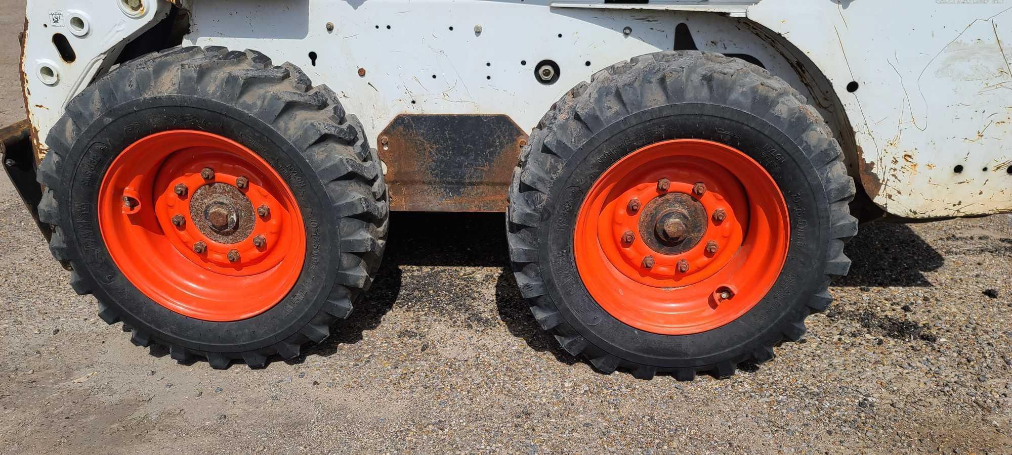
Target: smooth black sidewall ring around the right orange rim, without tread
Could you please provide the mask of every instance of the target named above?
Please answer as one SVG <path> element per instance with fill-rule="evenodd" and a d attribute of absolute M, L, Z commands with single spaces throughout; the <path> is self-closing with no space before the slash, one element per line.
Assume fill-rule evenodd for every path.
<path fill-rule="evenodd" d="M 558 125 L 556 126 L 558 127 Z M 593 347 L 627 361 L 658 367 L 698 367 L 744 359 L 782 338 L 785 326 L 809 314 L 808 301 L 825 286 L 829 243 L 828 198 L 819 173 L 781 131 L 749 112 L 708 103 L 676 103 L 629 114 L 595 133 L 569 157 L 550 190 L 544 229 L 538 230 L 545 290 Z M 788 135 L 791 134 L 791 135 Z M 577 270 L 574 233 L 580 207 L 612 164 L 662 141 L 700 139 L 734 147 L 756 160 L 779 186 L 790 214 L 790 243 L 780 276 L 766 296 L 737 320 L 692 335 L 659 335 L 627 326 L 590 296 Z M 591 348 L 588 348 L 591 349 Z M 593 356 L 593 353 L 588 353 Z"/>

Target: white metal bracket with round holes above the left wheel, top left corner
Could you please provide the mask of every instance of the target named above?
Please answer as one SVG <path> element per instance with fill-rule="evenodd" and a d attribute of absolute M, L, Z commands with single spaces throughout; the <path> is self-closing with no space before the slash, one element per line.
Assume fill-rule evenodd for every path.
<path fill-rule="evenodd" d="M 165 17 L 169 11 L 164 1 L 145 0 L 145 8 L 133 16 L 117 6 L 119 0 L 80 2 L 68 0 L 28 0 L 25 19 L 24 53 L 21 77 L 28 118 L 41 143 L 53 124 L 63 115 L 67 103 L 84 90 L 99 71 L 130 42 L 130 39 Z M 80 23 L 71 24 L 77 17 Z M 65 62 L 53 44 L 53 36 L 62 33 L 74 49 L 76 59 Z M 111 58 L 111 59 L 110 59 Z M 55 77 L 41 74 L 49 68 Z M 55 81 L 54 81 L 55 80 Z"/>

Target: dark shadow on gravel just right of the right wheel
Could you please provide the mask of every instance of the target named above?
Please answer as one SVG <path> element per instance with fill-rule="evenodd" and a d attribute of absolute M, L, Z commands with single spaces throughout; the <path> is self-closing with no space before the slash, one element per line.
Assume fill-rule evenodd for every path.
<path fill-rule="evenodd" d="M 944 262 L 910 226 L 889 222 L 862 224 L 843 251 L 853 262 L 850 273 L 834 281 L 835 286 L 930 287 L 923 272 Z"/>

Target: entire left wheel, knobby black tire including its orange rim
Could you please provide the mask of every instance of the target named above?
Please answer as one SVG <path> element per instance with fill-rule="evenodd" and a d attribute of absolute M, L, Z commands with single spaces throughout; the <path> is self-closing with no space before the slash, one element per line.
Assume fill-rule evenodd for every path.
<path fill-rule="evenodd" d="M 376 153 L 334 92 L 290 64 L 154 53 L 75 97 L 47 144 L 39 218 L 71 285 L 179 362 L 297 357 L 378 268 Z"/>

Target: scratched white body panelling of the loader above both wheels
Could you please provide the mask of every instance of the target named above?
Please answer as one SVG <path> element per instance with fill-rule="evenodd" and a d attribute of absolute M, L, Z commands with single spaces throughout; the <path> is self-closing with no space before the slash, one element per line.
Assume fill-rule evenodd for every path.
<path fill-rule="evenodd" d="M 29 38 L 40 3 L 29 3 Z M 111 1 L 78 7 L 109 9 L 106 3 L 115 9 Z M 529 130 L 594 72 L 671 50 L 676 26 L 686 23 L 699 50 L 753 56 L 809 96 L 837 126 L 845 149 L 856 152 L 848 165 L 887 211 L 908 217 L 1012 211 L 1012 154 L 1001 147 L 1012 112 L 1009 6 L 991 0 L 688 3 L 196 0 L 184 44 L 254 49 L 275 63 L 299 65 L 314 83 L 340 94 L 377 144 L 376 134 L 402 113 L 501 113 Z M 794 54 L 757 37 L 763 27 L 780 34 L 777 42 L 795 47 Z M 125 27 L 106 41 L 142 28 Z M 52 43 L 44 44 L 29 39 L 28 59 L 52 59 L 45 53 Z M 100 50 L 75 50 L 78 62 L 102 58 Z M 815 64 L 806 68 L 810 74 L 798 76 L 795 57 Z M 542 60 L 561 67 L 557 83 L 535 80 Z M 851 82 L 858 83 L 856 92 L 848 92 Z M 40 133 L 80 89 L 30 81 L 28 88 Z M 33 107 L 36 99 L 46 112 Z M 960 173 L 953 172 L 957 165 Z"/>

